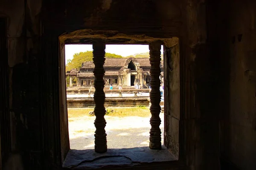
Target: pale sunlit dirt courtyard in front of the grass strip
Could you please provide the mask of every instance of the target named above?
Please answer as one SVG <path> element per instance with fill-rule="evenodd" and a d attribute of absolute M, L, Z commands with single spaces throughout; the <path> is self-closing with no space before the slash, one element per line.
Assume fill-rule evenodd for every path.
<path fill-rule="evenodd" d="M 68 111 L 70 111 L 69 109 Z M 148 109 L 149 111 L 149 109 Z M 160 129 L 163 144 L 163 113 Z M 150 115 L 140 116 L 105 116 L 107 125 L 108 148 L 133 148 L 149 146 Z M 89 116 L 88 112 L 69 116 L 70 148 L 76 150 L 94 149 L 95 116 Z"/>

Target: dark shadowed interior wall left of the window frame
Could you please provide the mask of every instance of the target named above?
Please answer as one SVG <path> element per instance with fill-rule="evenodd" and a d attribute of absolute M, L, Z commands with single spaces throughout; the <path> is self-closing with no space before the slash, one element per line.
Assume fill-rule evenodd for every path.
<path fill-rule="evenodd" d="M 37 168 L 42 156 L 38 91 L 41 1 L 26 2 L 0 1 L 0 17 L 7 20 L 11 147 L 22 154 L 25 165 Z"/>

